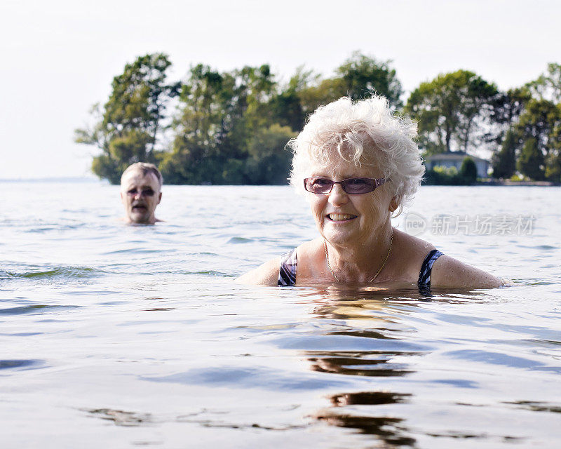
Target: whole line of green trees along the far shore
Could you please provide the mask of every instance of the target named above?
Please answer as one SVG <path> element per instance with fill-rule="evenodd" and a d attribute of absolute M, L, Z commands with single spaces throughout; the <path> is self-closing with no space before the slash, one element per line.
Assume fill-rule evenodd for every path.
<path fill-rule="evenodd" d="M 111 83 L 92 126 L 75 141 L 100 149 L 92 170 L 119 183 L 131 163 L 155 163 L 168 184 L 285 184 L 292 154 L 285 145 L 319 105 L 349 96 L 384 95 L 396 112 L 419 122 L 425 155 L 492 151 L 494 177 L 520 173 L 561 181 L 561 65 L 506 92 L 468 70 L 419 84 L 405 104 L 391 61 L 355 52 L 324 77 L 299 67 L 279 81 L 269 65 L 221 72 L 191 66 L 170 81 L 163 53 L 127 64 Z"/>

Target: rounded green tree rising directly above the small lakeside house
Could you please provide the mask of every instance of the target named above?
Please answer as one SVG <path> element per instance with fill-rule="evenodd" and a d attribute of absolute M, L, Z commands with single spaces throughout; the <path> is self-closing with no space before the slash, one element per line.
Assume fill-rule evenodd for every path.
<path fill-rule="evenodd" d="M 421 83 L 405 111 L 419 120 L 419 144 L 428 154 L 471 152 L 496 140 L 490 128 L 497 98 L 493 83 L 458 70 Z"/>

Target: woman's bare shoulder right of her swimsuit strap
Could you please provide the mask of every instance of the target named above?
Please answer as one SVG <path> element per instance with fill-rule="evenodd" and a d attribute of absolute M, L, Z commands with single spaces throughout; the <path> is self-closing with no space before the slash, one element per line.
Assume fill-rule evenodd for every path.
<path fill-rule="evenodd" d="M 508 285 L 482 269 L 464 264 L 447 255 L 435 260 L 431 272 L 431 286 L 449 288 L 496 288 Z"/>

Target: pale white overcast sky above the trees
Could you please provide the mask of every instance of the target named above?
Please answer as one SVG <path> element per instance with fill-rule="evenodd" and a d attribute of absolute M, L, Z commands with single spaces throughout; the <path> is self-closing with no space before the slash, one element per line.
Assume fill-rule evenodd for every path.
<path fill-rule="evenodd" d="M 91 176 L 74 128 L 145 53 L 168 53 L 174 79 L 199 62 L 288 79 L 360 50 L 406 91 L 457 69 L 506 89 L 561 62 L 560 23 L 558 0 L 2 0 L 0 179 Z"/>

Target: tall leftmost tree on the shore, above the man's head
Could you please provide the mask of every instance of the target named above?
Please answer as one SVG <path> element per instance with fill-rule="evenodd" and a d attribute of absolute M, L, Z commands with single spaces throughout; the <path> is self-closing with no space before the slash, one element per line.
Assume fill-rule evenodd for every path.
<path fill-rule="evenodd" d="M 101 150 L 92 163 L 99 177 L 116 184 L 131 163 L 156 161 L 166 107 L 177 95 L 177 84 L 167 83 L 170 65 L 163 53 L 140 56 L 127 64 L 113 79 L 109 100 L 102 109 L 94 109 L 93 128 L 76 130 L 76 142 Z"/>

